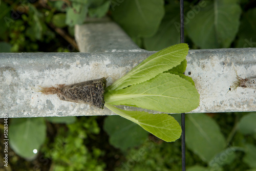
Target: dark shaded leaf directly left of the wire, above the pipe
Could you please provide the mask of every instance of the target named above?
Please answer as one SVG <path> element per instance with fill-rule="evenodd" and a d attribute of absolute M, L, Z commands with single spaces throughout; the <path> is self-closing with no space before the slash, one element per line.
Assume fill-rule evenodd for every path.
<path fill-rule="evenodd" d="M 186 3 L 186 2 L 184 2 Z M 165 15 L 154 36 L 144 38 L 144 46 L 148 51 L 159 51 L 180 42 L 180 28 L 175 26 L 180 22 L 180 3 L 172 1 L 165 6 Z"/>

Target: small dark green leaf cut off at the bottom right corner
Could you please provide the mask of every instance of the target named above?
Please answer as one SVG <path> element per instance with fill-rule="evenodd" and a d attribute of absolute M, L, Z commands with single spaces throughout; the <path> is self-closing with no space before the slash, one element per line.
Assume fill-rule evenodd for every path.
<path fill-rule="evenodd" d="M 256 146 L 255 144 L 246 144 L 245 146 L 245 156 L 243 161 L 248 164 L 251 168 L 256 168 Z"/>

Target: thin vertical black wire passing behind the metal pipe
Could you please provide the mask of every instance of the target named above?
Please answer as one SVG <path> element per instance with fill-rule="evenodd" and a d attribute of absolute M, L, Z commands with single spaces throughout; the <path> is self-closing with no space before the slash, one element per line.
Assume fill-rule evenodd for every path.
<path fill-rule="evenodd" d="M 180 42 L 184 43 L 184 2 L 180 0 Z M 186 170 L 186 158 L 185 158 L 185 113 L 181 114 L 181 170 Z"/>

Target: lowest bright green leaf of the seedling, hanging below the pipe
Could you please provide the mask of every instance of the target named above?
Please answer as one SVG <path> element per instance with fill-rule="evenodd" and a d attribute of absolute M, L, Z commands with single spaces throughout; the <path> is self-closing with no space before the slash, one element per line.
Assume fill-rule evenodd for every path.
<path fill-rule="evenodd" d="M 116 114 L 137 123 L 144 130 L 161 138 L 166 142 L 172 142 L 180 138 L 181 127 L 179 123 L 168 114 L 150 114 L 139 111 L 124 111 L 105 103 L 106 108 Z"/>

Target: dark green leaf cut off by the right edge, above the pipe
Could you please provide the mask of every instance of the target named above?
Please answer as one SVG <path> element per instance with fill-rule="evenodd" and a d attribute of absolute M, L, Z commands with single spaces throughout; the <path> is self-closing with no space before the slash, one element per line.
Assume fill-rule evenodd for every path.
<path fill-rule="evenodd" d="M 238 37 L 237 48 L 256 47 L 256 8 L 242 15 Z"/>

